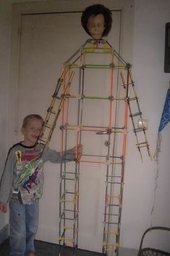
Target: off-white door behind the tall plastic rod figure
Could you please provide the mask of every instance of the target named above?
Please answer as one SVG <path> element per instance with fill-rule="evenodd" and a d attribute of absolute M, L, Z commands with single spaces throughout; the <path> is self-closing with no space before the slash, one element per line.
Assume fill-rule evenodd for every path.
<path fill-rule="evenodd" d="M 113 10 L 112 13 L 113 27 L 106 40 L 116 49 L 116 52 L 120 52 L 122 10 Z M 43 12 L 24 14 L 21 17 L 17 102 L 14 106 L 17 109 L 15 119 L 19 127 L 17 141 L 22 139 L 20 127 L 24 116 L 30 113 L 46 116 L 62 63 L 88 39 L 88 35 L 81 27 L 81 12 Z M 98 79 L 100 81 L 100 77 Z M 50 143 L 51 148 L 56 148 L 58 151 L 60 149 L 59 122 L 60 120 Z M 58 243 L 59 164 L 47 163 L 44 169 L 45 184 L 36 239 Z M 82 172 L 80 191 L 82 209 L 80 209 L 78 247 L 101 252 L 104 174 L 96 172 L 93 167 L 87 172 Z"/>

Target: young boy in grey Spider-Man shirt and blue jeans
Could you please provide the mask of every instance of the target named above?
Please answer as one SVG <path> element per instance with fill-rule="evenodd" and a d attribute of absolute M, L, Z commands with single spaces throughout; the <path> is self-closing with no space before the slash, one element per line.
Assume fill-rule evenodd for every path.
<path fill-rule="evenodd" d="M 24 140 L 9 149 L 1 177 L 0 212 L 7 212 L 9 201 L 10 256 L 34 255 L 39 199 L 43 194 L 43 164 L 61 161 L 61 153 L 48 147 L 40 157 L 43 145 L 36 145 L 36 142 L 42 127 L 41 116 L 31 114 L 25 117 L 22 124 Z M 74 161 L 75 151 L 76 147 L 66 151 L 64 161 Z M 80 157 L 82 145 L 77 151 Z"/>

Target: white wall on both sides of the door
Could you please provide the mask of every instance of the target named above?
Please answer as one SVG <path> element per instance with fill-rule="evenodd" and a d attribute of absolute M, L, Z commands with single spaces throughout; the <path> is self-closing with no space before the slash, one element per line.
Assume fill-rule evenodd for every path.
<path fill-rule="evenodd" d="M 19 1 L 12 1 L 19 2 Z M 21 1 L 20 1 L 21 2 Z M 9 49 L 11 2 L 0 0 L 0 167 L 4 164 L 7 153 L 5 140 L 8 113 L 9 86 Z M 135 0 L 135 27 L 132 72 L 140 97 L 140 107 L 143 117 L 149 121 L 148 138 L 152 153 L 156 149 L 158 124 L 161 119 L 166 91 L 169 88 L 170 75 L 163 72 L 165 23 L 170 22 L 169 0 Z M 144 157 L 140 161 L 135 148 L 132 127 L 129 127 L 129 143 L 124 185 L 124 203 L 122 213 L 122 244 L 124 247 L 138 248 L 140 239 L 146 228 L 153 225 L 170 227 L 169 204 L 169 151 L 170 124 L 162 132 L 161 154 L 159 158 L 158 188 L 156 189 L 156 204 L 152 217 L 156 162 Z M 1 172 L 1 171 L 0 171 Z M 7 223 L 7 217 L 0 215 L 0 228 Z"/>

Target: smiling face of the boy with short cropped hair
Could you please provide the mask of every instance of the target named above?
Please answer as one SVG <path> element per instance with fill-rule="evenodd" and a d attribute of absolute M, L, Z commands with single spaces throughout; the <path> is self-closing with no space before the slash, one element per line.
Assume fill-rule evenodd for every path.
<path fill-rule="evenodd" d="M 40 119 L 30 119 L 27 125 L 22 127 L 22 134 L 24 135 L 23 144 L 26 146 L 35 145 L 43 127 L 43 121 Z"/>

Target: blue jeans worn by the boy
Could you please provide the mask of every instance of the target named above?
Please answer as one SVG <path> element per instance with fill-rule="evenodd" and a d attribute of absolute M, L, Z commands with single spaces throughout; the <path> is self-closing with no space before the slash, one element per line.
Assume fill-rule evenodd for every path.
<path fill-rule="evenodd" d="M 34 239 L 38 229 L 39 202 L 20 204 L 9 201 L 10 256 L 35 252 Z"/>

